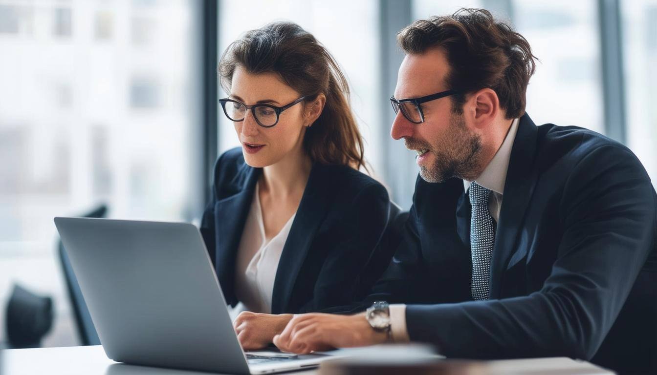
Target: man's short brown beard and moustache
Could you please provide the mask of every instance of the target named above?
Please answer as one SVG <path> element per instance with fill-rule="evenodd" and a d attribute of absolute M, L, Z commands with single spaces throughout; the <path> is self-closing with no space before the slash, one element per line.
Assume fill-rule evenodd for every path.
<path fill-rule="evenodd" d="M 481 138 L 468 132 L 463 115 L 453 114 L 449 122 L 449 129 L 440 144 L 405 139 L 407 148 L 425 149 L 434 154 L 432 165 L 420 166 L 420 177 L 428 183 L 442 183 L 452 177 L 463 178 L 472 175 L 477 168 L 482 149 Z"/>

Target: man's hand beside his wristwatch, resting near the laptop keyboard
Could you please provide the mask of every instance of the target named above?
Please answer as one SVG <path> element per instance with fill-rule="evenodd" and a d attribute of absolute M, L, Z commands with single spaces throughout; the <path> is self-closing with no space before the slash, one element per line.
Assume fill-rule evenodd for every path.
<path fill-rule="evenodd" d="M 294 315 L 274 343 L 283 351 L 307 354 L 336 347 L 367 346 L 384 343 L 386 332 L 375 331 L 365 314 L 332 315 L 310 313 Z"/>

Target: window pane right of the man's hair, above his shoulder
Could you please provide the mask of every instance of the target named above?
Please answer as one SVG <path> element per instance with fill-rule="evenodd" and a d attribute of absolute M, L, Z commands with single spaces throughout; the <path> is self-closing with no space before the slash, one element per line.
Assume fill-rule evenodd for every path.
<path fill-rule="evenodd" d="M 604 133 L 597 2 L 512 4 L 518 32 L 541 60 L 527 89 L 527 112 L 532 120 Z"/>

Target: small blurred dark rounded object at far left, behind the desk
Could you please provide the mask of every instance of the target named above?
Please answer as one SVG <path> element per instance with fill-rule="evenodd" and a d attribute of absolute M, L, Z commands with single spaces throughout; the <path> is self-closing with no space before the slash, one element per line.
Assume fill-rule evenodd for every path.
<path fill-rule="evenodd" d="M 16 349 L 39 347 L 53 326 L 53 300 L 14 285 L 7 304 L 7 339 Z"/>

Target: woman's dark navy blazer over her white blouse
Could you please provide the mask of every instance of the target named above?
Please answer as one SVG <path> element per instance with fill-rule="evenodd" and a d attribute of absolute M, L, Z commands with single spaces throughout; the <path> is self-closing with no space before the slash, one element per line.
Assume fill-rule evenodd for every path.
<path fill-rule="evenodd" d="M 244 162 L 241 148 L 221 155 L 202 219 L 223 295 L 233 306 L 237 251 L 261 173 Z M 357 298 L 389 210 L 386 188 L 371 177 L 345 165 L 315 163 L 283 247 L 271 313 L 317 311 Z"/>

